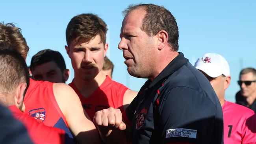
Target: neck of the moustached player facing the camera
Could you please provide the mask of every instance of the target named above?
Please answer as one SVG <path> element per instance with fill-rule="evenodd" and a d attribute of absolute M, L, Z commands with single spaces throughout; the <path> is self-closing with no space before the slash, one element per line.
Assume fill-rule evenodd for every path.
<path fill-rule="evenodd" d="M 75 74 L 73 82 L 82 96 L 88 98 L 103 83 L 105 79 L 106 76 L 102 73 L 101 70 L 94 79 L 89 80 L 81 79 Z"/>

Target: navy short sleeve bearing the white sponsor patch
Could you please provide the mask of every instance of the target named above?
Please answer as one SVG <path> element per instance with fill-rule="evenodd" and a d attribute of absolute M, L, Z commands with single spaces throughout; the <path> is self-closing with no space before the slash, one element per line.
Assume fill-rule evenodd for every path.
<path fill-rule="evenodd" d="M 223 141 L 221 107 L 194 89 L 176 87 L 165 92 L 158 112 L 162 143 L 221 144 Z"/>

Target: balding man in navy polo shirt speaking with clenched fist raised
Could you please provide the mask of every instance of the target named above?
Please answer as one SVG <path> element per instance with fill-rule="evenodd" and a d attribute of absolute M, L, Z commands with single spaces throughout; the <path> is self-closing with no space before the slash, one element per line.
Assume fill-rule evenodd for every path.
<path fill-rule="evenodd" d="M 118 48 L 130 75 L 149 78 L 122 114 L 130 123 L 126 138 L 131 135 L 134 144 L 223 144 L 221 105 L 208 79 L 177 52 L 178 26 L 170 11 L 140 4 L 124 14 Z M 94 121 L 109 143 L 126 128 L 118 109 L 98 111 Z"/>

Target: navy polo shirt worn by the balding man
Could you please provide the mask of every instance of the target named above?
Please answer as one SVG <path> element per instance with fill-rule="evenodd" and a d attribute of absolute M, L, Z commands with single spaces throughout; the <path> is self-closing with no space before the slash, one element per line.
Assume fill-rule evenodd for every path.
<path fill-rule="evenodd" d="M 132 122 L 134 144 L 223 144 L 221 104 L 208 79 L 181 52 L 154 81 L 146 81 L 124 120 Z"/>

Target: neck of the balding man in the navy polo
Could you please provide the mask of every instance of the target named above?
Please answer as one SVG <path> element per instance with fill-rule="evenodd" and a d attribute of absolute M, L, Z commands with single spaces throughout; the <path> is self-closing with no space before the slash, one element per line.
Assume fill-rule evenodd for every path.
<path fill-rule="evenodd" d="M 169 48 L 169 47 L 167 47 Z M 162 51 L 160 53 L 159 57 L 156 57 L 156 59 L 154 59 L 154 61 L 156 62 L 155 66 L 154 66 L 154 70 L 152 70 L 152 76 L 150 76 L 151 81 L 153 81 L 162 71 L 163 69 L 165 69 L 165 67 L 171 62 L 173 61 L 173 59 L 175 57 L 177 57 L 179 55 L 178 52 L 176 51 L 170 51 L 169 49 L 165 49 L 164 51 Z"/>

